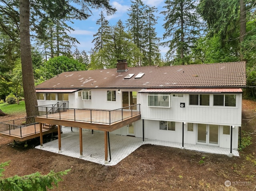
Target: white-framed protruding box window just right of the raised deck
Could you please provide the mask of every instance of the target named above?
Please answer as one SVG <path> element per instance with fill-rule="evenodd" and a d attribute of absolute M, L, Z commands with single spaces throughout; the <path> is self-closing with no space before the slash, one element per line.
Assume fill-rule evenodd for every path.
<path fill-rule="evenodd" d="M 148 107 L 167 107 L 170 108 L 170 95 L 149 94 Z"/>

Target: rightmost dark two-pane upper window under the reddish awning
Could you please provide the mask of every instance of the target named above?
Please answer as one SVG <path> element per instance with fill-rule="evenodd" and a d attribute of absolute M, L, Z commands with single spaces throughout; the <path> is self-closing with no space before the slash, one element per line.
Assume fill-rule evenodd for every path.
<path fill-rule="evenodd" d="M 213 105 L 214 106 L 236 106 L 236 95 L 213 95 Z"/>

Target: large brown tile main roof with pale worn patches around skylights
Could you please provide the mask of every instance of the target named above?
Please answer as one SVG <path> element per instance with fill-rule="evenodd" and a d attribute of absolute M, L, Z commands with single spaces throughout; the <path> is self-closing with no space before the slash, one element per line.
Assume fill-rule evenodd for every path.
<path fill-rule="evenodd" d="M 246 63 L 212 63 L 178 66 L 132 67 L 72 71 L 59 74 L 36 86 L 36 89 L 105 89 L 105 88 L 177 88 L 177 87 L 244 87 Z M 145 73 L 135 79 L 138 73 Z M 134 74 L 130 79 L 124 79 Z"/>

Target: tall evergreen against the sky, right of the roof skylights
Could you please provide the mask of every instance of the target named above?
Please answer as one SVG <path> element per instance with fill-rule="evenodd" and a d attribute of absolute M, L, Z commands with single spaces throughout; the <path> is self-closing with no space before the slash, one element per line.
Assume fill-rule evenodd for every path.
<path fill-rule="evenodd" d="M 164 14 L 166 21 L 163 38 L 164 46 L 170 49 L 166 53 L 168 59 L 174 59 L 173 64 L 188 63 L 188 55 L 199 35 L 199 18 L 196 14 L 195 0 L 166 0 Z M 175 55 L 176 54 L 176 55 Z"/>

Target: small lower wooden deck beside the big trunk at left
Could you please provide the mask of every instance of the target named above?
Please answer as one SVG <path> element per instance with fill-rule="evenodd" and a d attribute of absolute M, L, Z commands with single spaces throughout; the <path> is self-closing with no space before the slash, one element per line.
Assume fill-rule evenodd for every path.
<path fill-rule="evenodd" d="M 42 134 L 45 135 L 57 131 L 57 127 L 48 128 L 44 126 L 42 129 Z M 21 126 L 15 129 L 5 130 L 0 132 L 0 136 L 20 142 L 30 140 L 40 136 L 40 124 L 36 123 L 28 126 Z"/>

